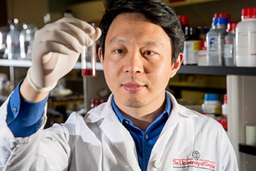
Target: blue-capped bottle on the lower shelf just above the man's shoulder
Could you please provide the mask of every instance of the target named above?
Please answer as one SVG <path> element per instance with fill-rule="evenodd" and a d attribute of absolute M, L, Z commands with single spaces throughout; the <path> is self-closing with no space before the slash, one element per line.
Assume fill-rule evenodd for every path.
<path fill-rule="evenodd" d="M 202 104 L 202 112 L 211 118 L 218 120 L 221 118 L 221 101 L 217 93 L 206 93 L 204 103 Z"/>

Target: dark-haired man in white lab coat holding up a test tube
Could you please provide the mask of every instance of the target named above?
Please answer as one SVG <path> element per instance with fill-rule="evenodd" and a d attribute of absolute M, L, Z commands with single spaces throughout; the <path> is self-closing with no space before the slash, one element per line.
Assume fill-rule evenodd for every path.
<path fill-rule="evenodd" d="M 221 125 L 165 92 L 183 60 L 173 9 L 159 0 L 109 0 L 100 27 L 98 55 L 113 94 L 84 118 L 74 112 L 45 130 L 50 89 L 101 31 L 73 18 L 37 31 L 32 67 L 0 109 L 1 169 L 238 170 Z"/>

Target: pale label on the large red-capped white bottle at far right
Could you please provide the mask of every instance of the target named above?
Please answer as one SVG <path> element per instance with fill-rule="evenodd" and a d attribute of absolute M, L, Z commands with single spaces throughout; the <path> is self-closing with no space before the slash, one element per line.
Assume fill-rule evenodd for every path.
<path fill-rule="evenodd" d="M 256 31 L 239 31 L 236 36 L 236 55 L 256 57 Z"/>

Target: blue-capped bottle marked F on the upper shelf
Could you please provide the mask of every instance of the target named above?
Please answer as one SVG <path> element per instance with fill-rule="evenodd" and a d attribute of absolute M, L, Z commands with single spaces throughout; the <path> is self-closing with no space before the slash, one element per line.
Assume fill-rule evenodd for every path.
<path fill-rule="evenodd" d="M 222 66 L 224 36 L 227 35 L 228 18 L 213 18 L 213 29 L 206 34 L 207 65 Z"/>

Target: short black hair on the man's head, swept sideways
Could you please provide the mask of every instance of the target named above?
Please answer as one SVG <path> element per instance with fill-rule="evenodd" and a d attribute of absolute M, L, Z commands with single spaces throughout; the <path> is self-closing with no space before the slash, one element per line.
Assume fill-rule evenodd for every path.
<path fill-rule="evenodd" d="M 106 35 L 113 20 L 122 13 L 139 13 L 154 24 L 162 27 L 169 36 L 172 45 L 172 61 L 176 61 L 179 53 L 184 50 L 184 32 L 180 20 L 173 9 L 161 0 L 106 0 L 105 13 L 99 27 L 102 36 L 99 38 L 102 55 L 105 53 Z"/>

